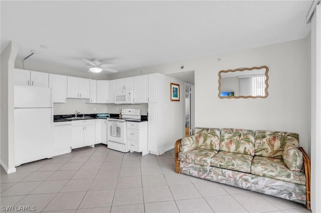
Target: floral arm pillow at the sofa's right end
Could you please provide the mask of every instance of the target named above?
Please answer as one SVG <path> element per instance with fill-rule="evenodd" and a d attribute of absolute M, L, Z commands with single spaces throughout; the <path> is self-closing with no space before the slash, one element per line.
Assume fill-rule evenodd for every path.
<path fill-rule="evenodd" d="M 303 166 L 303 154 L 295 145 L 286 143 L 283 150 L 285 165 L 293 171 L 300 171 Z"/>

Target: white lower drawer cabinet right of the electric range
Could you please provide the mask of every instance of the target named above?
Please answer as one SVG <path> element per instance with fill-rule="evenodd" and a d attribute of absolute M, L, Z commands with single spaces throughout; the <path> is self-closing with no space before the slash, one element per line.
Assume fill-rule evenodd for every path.
<path fill-rule="evenodd" d="M 147 121 L 133 122 L 126 121 L 127 148 L 132 151 L 141 152 L 141 155 L 148 154 L 147 147 Z"/>

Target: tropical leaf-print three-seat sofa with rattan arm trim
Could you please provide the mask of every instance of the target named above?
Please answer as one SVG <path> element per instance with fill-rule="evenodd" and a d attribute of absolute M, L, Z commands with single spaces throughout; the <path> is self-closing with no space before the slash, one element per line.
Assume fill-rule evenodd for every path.
<path fill-rule="evenodd" d="M 297 133 L 194 128 L 176 141 L 176 172 L 245 188 L 310 209 L 310 158 Z"/>

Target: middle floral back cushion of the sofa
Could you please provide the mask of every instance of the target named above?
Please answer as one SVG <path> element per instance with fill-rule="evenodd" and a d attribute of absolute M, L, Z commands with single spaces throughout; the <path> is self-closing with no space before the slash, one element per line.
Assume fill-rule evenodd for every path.
<path fill-rule="evenodd" d="M 220 151 L 254 156 L 254 131 L 248 129 L 222 128 Z"/>

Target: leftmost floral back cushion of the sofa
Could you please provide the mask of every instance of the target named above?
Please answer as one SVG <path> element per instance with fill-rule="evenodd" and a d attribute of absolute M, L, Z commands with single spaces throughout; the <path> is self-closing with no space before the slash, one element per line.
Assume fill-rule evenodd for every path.
<path fill-rule="evenodd" d="M 196 136 L 198 148 L 220 150 L 220 129 L 219 128 L 193 128 L 193 135 Z"/>

